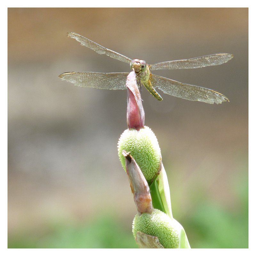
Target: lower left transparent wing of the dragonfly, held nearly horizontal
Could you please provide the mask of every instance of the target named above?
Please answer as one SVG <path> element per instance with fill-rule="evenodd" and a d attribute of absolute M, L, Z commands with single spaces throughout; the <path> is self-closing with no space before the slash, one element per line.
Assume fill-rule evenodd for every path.
<path fill-rule="evenodd" d="M 67 72 L 61 74 L 61 80 L 66 80 L 76 86 L 91 87 L 96 89 L 107 90 L 124 90 L 126 89 L 125 73 L 94 73 L 94 72 Z"/>

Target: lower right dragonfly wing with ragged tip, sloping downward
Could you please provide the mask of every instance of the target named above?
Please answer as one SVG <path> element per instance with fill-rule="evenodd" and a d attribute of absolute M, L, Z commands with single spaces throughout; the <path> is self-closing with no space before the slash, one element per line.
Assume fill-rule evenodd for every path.
<path fill-rule="evenodd" d="M 222 93 L 204 87 L 182 84 L 180 82 L 151 74 L 150 81 L 153 87 L 158 87 L 164 93 L 185 99 L 219 104 L 227 101 L 228 98 Z M 229 101 L 229 100 L 228 100 Z"/>

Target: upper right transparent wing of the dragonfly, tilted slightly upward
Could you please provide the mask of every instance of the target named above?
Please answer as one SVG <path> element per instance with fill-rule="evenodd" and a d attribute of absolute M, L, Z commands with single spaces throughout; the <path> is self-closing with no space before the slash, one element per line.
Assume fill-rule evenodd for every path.
<path fill-rule="evenodd" d="M 156 69 L 184 69 L 202 68 L 207 66 L 220 65 L 233 58 L 230 53 L 217 53 L 188 60 L 172 60 L 149 65 L 150 70 Z"/>

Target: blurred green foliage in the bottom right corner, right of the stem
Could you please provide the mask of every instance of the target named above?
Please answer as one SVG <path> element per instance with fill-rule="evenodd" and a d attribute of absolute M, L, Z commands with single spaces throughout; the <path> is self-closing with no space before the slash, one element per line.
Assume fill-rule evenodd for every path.
<path fill-rule="evenodd" d="M 202 200 L 180 220 L 191 248 L 248 248 L 248 177 L 236 180 L 236 209 Z"/>

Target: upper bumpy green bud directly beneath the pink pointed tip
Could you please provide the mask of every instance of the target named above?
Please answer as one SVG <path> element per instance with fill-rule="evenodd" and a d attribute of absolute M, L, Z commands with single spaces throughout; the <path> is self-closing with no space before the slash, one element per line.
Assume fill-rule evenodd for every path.
<path fill-rule="evenodd" d="M 125 157 L 122 154 L 123 150 L 130 152 L 148 182 L 155 178 L 162 157 L 156 135 L 149 127 L 144 126 L 140 130 L 125 130 L 118 141 L 117 148 L 124 170 L 126 170 L 126 167 Z"/>

